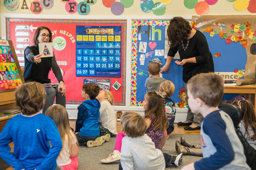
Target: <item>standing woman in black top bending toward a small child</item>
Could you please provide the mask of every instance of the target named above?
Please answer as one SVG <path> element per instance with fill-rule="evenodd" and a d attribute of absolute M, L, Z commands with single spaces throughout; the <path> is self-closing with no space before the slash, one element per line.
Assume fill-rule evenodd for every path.
<path fill-rule="evenodd" d="M 179 52 L 180 61 L 175 61 L 175 63 L 183 66 L 182 78 L 187 92 L 186 83 L 192 76 L 214 72 L 212 54 L 207 39 L 203 33 L 191 28 L 187 20 L 181 17 L 174 17 L 170 20 L 167 36 L 170 49 L 166 64 L 161 68 L 161 73 L 168 72 L 172 59 Z M 200 113 L 192 113 L 188 108 L 187 120 L 179 122 L 178 126 L 185 126 L 185 130 L 198 130 L 202 118 Z"/>

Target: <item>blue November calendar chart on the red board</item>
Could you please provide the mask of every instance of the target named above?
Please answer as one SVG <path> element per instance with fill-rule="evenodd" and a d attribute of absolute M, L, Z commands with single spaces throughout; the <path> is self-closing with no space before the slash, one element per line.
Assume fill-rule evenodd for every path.
<path fill-rule="evenodd" d="M 121 77 L 121 26 L 76 26 L 76 76 Z"/>

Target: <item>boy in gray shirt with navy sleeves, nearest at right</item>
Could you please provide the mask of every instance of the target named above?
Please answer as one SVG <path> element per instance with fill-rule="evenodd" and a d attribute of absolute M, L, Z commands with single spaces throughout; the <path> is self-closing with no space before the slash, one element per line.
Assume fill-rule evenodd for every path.
<path fill-rule="evenodd" d="M 203 159 L 182 169 L 250 169 L 243 146 L 228 114 L 218 109 L 224 92 L 224 79 L 214 73 L 201 73 L 188 80 L 188 105 L 201 113 Z"/>

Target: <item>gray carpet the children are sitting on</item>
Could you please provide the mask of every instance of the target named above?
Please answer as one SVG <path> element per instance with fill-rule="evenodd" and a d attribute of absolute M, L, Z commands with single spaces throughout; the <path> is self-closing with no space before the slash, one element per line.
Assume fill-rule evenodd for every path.
<path fill-rule="evenodd" d="M 164 145 L 164 153 L 176 155 L 175 141 L 180 141 L 180 136 L 183 136 L 186 141 L 190 143 L 200 143 L 200 135 L 190 134 L 171 134 Z M 97 147 L 79 147 L 79 168 L 78 169 L 118 169 L 118 162 L 102 164 L 101 159 L 108 157 L 113 152 L 115 146 L 115 137 L 111 138 L 109 142 L 104 143 L 102 146 Z M 166 169 L 181 169 L 183 165 L 195 162 L 202 157 L 184 155 L 183 164 L 180 167 L 170 167 Z"/>

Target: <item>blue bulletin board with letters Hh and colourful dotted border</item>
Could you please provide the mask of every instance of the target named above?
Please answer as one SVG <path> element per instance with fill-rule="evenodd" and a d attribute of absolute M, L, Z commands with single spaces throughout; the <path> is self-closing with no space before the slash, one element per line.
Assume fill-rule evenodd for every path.
<path fill-rule="evenodd" d="M 168 44 L 166 41 L 166 28 L 169 20 L 133 20 L 132 55 L 131 55 L 131 105 L 142 106 L 146 87 L 144 83 L 148 78 L 147 65 L 159 58 L 163 65 L 166 63 Z M 168 51 L 167 51 L 168 52 Z M 171 80 L 175 85 L 174 95 L 171 99 L 178 103 L 180 89 L 184 86 L 182 80 L 183 68 L 172 61 L 168 73 L 163 78 Z"/>

